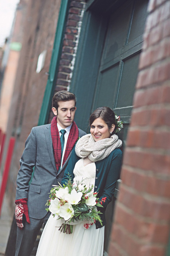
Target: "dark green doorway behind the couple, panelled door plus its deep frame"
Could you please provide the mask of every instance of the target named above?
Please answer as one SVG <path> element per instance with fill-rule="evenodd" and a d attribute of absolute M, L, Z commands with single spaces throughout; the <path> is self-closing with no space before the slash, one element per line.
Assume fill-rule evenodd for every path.
<path fill-rule="evenodd" d="M 75 121 L 86 130 L 100 106 L 121 116 L 124 144 L 133 107 L 148 0 L 89 0 L 71 90 L 78 97 Z"/>

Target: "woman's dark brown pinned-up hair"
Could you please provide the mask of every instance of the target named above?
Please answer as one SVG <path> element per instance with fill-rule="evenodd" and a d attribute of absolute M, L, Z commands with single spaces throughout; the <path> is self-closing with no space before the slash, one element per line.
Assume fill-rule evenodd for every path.
<path fill-rule="evenodd" d="M 115 125 L 114 131 L 112 132 L 112 134 L 115 134 L 117 124 L 115 121 L 115 113 L 113 112 L 113 110 L 108 107 L 101 107 L 94 110 L 89 118 L 89 125 L 91 126 L 94 120 L 99 117 L 107 124 L 108 129 L 111 128 L 112 124 Z"/>

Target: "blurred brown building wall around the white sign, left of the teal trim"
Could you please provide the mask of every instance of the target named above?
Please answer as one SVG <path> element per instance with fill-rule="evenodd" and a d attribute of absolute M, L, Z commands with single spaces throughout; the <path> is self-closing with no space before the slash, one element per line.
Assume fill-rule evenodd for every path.
<path fill-rule="evenodd" d="M 15 202 L 16 176 L 20 167 L 19 159 L 24 150 L 25 140 L 39 119 L 48 79 L 47 72 L 50 67 L 60 3 L 61 0 L 28 1 L 23 24 L 23 43 L 8 116 L 7 139 L 1 167 L 3 169 L 9 138 L 15 136 L 16 143 L 7 185 L 8 193 L 12 195 L 9 199 L 11 207 L 14 206 Z M 44 68 L 36 73 L 39 54 L 44 50 L 47 50 Z"/>

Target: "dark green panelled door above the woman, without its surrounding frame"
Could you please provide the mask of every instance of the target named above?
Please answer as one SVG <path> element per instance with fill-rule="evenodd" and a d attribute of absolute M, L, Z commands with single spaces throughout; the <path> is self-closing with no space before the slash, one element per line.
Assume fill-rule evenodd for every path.
<path fill-rule="evenodd" d="M 109 106 L 124 123 L 126 139 L 133 108 L 148 0 L 125 1 L 111 11 L 96 81 L 92 110 Z"/>

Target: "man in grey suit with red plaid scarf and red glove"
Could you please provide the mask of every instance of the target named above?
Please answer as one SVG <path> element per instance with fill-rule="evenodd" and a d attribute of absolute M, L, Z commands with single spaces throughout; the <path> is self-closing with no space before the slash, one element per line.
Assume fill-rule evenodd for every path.
<path fill-rule="evenodd" d="M 17 240 L 15 256 L 29 256 L 37 234 L 50 212 L 45 210 L 52 185 L 61 182 L 72 148 L 86 133 L 74 122 L 76 98 L 59 91 L 52 99 L 51 124 L 33 127 L 28 136 L 17 176 Z M 34 175 L 31 180 L 33 167 Z"/>

